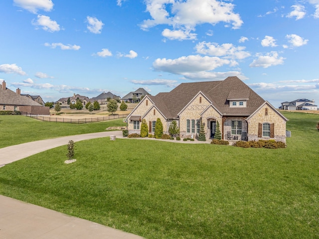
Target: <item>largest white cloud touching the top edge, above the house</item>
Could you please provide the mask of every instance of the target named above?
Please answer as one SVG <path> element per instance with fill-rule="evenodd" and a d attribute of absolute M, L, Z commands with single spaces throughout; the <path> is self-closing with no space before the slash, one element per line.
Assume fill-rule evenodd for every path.
<path fill-rule="evenodd" d="M 203 23 L 215 25 L 225 22 L 226 26 L 231 24 L 234 29 L 243 24 L 240 15 L 233 11 L 234 4 L 229 2 L 217 0 L 145 0 L 145 2 L 151 19 L 144 20 L 141 28 L 147 30 L 159 24 L 171 25 L 174 30 L 165 32 L 169 36 L 173 33 L 180 35 L 179 29 L 194 29 L 196 25 Z M 181 40 L 181 37 L 176 39 Z"/>

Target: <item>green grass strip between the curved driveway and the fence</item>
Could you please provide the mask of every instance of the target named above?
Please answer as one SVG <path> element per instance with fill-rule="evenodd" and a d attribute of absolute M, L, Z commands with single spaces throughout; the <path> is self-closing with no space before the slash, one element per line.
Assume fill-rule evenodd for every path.
<path fill-rule="evenodd" d="M 40 121 L 24 116 L 0 116 L 0 148 L 14 144 L 81 133 L 103 132 L 110 126 L 122 126 L 123 119 L 93 123 Z"/>

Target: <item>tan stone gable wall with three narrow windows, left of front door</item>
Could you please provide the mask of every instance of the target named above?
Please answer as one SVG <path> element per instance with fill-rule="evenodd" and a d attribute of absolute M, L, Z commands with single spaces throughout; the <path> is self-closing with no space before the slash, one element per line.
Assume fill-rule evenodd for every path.
<path fill-rule="evenodd" d="M 201 97 L 201 103 L 200 102 Z M 206 100 L 203 95 L 199 94 L 195 99 L 193 99 L 192 102 L 183 110 L 183 112 L 179 115 L 179 136 L 180 137 L 193 137 L 195 138 L 196 133 L 196 125 L 195 125 L 195 133 L 187 133 L 187 119 L 201 119 L 200 114 L 210 105 L 210 103 Z M 203 121 L 204 122 L 204 121 Z M 190 122 L 190 128 L 191 128 L 191 122 Z"/>

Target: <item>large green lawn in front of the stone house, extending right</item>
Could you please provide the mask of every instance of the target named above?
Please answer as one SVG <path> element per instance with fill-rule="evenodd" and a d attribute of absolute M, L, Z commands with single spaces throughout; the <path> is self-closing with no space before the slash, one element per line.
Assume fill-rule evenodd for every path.
<path fill-rule="evenodd" d="M 148 239 L 319 238 L 319 115 L 284 114 L 284 149 L 86 140 L 0 168 L 0 194 Z"/>

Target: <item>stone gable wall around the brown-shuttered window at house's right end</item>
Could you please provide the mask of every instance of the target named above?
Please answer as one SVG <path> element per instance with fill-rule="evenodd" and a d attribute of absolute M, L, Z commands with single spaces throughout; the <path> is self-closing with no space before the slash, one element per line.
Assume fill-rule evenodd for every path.
<path fill-rule="evenodd" d="M 268 109 L 268 115 L 265 115 Z M 258 123 L 274 123 L 275 137 L 258 137 Z M 264 105 L 255 115 L 248 119 L 248 140 L 275 139 L 286 143 L 286 120 L 278 115 L 269 105 Z"/>

